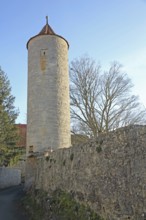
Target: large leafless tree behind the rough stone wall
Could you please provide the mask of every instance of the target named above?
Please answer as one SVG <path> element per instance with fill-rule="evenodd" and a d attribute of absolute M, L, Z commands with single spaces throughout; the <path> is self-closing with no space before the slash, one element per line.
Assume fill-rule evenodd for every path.
<path fill-rule="evenodd" d="M 70 99 L 73 124 L 88 136 L 130 124 L 146 122 L 145 109 L 122 66 L 114 62 L 108 71 L 87 56 L 70 65 Z"/>

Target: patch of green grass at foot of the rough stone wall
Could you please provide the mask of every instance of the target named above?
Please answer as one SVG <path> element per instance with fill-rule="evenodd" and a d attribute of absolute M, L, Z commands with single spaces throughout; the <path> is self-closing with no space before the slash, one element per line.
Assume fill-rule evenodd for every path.
<path fill-rule="evenodd" d="M 88 206 L 74 200 L 71 194 L 56 190 L 47 196 L 45 192 L 29 193 L 23 199 L 23 205 L 30 213 L 30 220 L 103 220 Z"/>

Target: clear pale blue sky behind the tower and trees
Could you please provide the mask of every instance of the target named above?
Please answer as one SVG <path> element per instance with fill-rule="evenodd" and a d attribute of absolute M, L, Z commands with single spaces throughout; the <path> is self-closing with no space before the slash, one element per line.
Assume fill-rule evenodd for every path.
<path fill-rule="evenodd" d="M 0 0 L 0 66 L 26 122 L 26 43 L 45 25 L 70 44 L 69 61 L 88 54 L 103 69 L 118 61 L 146 106 L 146 0 Z"/>

